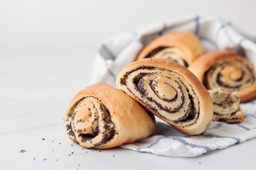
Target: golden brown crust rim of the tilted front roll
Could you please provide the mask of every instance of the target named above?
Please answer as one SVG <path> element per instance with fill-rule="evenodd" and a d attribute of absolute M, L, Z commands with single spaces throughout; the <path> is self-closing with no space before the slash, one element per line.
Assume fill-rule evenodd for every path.
<path fill-rule="evenodd" d="M 181 66 L 180 64 L 177 64 L 176 62 L 173 62 L 171 60 L 163 60 L 163 59 L 144 59 L 139 60 L 137 62 L 133 62 L 119 73 L 117 76 L 117 88 L 121 89 L 125 93 L 129 94 L 135 101 L 137 101 L 140 105 L 142 105 L 144 108 L 146 108 L 148 111 L 153 113 L 154 115 L 158 116 L 162 120 L 166 121 L 167 123 L 170 123 L 168 120 L 164 119 L 157 113 L 156 111 L 153 111 L 149 106 L 146 105 L 146 103 L 140 101 L 137 96 L 133 96 L 129 90 L 127 90 L 127 87 L 125 84 L 122 84 L 120 82 L 121 79 L 123 79 L 124 75 L 127 74 L 127 72 L 131 72 L 134 69 L 137 69 L 138 67 L 159 67 L 164 68 L 166 70 L 171 70 L 173 72 L 177 72 L 180 74 L 188 84 L 190 84 L 193 87 L 193 91 L 196 93 L 196 96 L 200 100 L 200 113 L 198 116 L 198 119 L 196 120 L 196 123 L 193 123 L 193 125 L 188 126 L 179 126 L 172 124 L 175 128 L 178 130 L 181 130 L 182 132 L 188 134 L 188 135 L 198 135 L 208 126 L 210 125 L 210 120 L 212 120 L 213 117 L 213 103 L 211 101 L 211 98 L 208 94 L 208 91 L 206 88 L 201 84 L 200 81 L 186 69 L 186 67 Z"/>

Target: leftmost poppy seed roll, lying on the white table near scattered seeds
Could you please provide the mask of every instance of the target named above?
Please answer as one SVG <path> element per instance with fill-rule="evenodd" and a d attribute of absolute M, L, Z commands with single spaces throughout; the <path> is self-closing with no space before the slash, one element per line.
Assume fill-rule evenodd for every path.
<path fill-rule="evenodd" d="M 80 91 L 70 102 L 64 122 L 71 140 L 96 149 L 142 140 L 156 128 L 138 103 L 105 83 Z"/>

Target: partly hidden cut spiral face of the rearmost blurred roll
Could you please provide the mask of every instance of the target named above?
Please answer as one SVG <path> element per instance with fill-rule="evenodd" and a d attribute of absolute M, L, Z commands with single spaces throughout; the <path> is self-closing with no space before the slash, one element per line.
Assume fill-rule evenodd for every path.
<path fill-rule="evenodd" d="M 156 47 L 154 50 L 149 52 L 145 58 L 169 59 L 174 62 L 178 62 L 178 64 L 181 64 L 184 67 L 188 67 L 188 60 L 186 59 L 186 56 L 177 47 Z"/>

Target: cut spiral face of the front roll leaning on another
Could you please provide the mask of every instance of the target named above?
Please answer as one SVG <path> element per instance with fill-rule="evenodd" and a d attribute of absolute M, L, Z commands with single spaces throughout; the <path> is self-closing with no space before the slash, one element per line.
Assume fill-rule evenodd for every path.
<path fill-rule="evenodd" d="M 191 84 L 177 72 L 143 65 L 127 72 L 120 83 L 146 108 L 171 124 L 187 126 L 198 119 L 198 96 Z"/>

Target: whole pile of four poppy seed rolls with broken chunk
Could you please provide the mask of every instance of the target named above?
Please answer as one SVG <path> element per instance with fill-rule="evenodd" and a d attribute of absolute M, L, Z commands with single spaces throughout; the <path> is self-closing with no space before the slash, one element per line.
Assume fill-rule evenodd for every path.
<path fill-rule="evenodd" d="M 93 84 L 72 99 L 68 137 L 96 149 L 132 143 L 154 132 L 154 115 L 187 135 L 201 134 L 211 120 L 241 123 L 240 102 L 256 98 L 255 79 L 240 55 L 204 54 L 193 33 L 162 35 L 119 72 L 117 89 Z"/>

